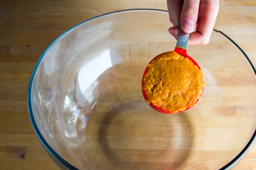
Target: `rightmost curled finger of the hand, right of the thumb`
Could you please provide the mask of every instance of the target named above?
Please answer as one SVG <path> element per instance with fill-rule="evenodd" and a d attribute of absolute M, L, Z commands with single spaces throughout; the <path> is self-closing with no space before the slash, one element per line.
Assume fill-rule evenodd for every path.
<path fill-rule="evenodd" d="M 196 32 L 190 34 L 189 44 L 208 44 L 219 12 L 219 1 L 201 0 Z"/>

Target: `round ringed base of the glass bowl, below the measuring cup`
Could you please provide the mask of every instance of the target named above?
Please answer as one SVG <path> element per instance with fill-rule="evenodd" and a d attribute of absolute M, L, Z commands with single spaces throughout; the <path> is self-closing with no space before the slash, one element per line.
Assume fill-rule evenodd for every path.
<path fill-rule="evenodd" d="M 114 169 L 180 169 L 193 148 L 185 112 L 160 114 L 146 102 L 123 102 L 107 111 L 97 142 Z"/>

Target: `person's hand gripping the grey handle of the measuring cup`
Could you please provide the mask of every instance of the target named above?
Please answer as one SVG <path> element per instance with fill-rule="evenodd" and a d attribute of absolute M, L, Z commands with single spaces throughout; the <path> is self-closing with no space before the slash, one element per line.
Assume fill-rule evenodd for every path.
<path fill-rule="evenodd" d="M 208 44 L 219 12 L 218 0 L 167 0 L 170 22 L 169 32 L 178 39 L 179 25 L 185 33 L 191 33 L 190 45 Z M 195 29 L 196 28 L 196 29 Z M 195 32 L 194 32 L 195 29 Z"/>

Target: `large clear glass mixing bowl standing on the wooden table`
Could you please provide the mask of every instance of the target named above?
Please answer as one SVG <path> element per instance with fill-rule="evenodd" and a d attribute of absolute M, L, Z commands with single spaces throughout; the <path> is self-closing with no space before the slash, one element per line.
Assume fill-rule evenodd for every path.
<path fill-rule="evenodd" d="M 229 169 L 255 140 L 256 79 L 248 56 L 214 30 L 190 55 L 205 76 L 201 100 L 176 115 L 153 110 L 141 78 L 173 51 L 168 12 L 132 9 L 76 25 L 32 73 L 28 110 L 61 169 Z"/>

